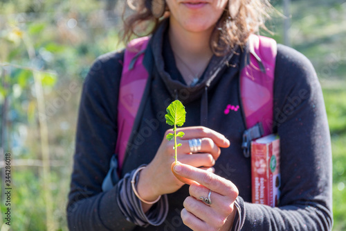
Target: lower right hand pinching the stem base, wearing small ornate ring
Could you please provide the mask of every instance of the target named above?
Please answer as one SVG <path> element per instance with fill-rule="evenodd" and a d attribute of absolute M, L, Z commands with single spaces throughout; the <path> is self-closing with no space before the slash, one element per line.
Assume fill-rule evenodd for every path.
<path fill-rule="evenodd" d="M 183 223 L 192 230 L 230 230 L 237 211 L 237 187 L 230 180 L 187 164 L 176 164 L 174 171 L 190 179 L 190 196 L 181 211 Z M 210 205 L 201 201 L 205 198 L 210 199 Z"/>

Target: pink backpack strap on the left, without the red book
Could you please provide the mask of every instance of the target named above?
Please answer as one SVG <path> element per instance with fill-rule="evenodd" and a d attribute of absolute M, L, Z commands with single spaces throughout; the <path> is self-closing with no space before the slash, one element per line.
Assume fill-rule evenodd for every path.
<path fill-rule="evenodd" d="M 143 54 L 148 42 L 149 37 L 140 37 L 131 40 L 125 49 L 122 76 L 120 79 L 117 118 L 118 139 L 116 142 L 116 153 L 118 154 L 120 169 L 124 161 L 127 142 L 129 141 L 149 76 L 143 66 Z"/>

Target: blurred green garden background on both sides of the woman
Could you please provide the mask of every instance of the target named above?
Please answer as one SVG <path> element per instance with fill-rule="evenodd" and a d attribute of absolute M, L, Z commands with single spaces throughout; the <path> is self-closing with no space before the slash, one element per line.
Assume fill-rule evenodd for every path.
<path fill-rule="evenodd" d="M 0 231 L 67 230 L 82 82 L 98 55 L 122 46 L 123 2 L 0 1 L 0 153 L 12 157 L 11 226 L 4 224 L 1 201 Z M 282 12 L 282 1 L 272 3 Z M 313 62 L 323 88 L 333 149 L 334 230 L 346 230 L 346 2 L 296 0 L 289 9 L 291 46 Z M 267 24 L 280 43 L 283 21 L 276 15 Z"/>

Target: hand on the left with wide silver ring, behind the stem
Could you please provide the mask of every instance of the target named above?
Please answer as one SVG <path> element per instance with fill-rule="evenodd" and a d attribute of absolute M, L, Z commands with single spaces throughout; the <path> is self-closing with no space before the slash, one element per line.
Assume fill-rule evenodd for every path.
<path fill-rule="evenodd" d="M 230 142 L 224 135 L 205 127 L 179 128 L 177 131 L 185 133 L 183 138 L 177 139 L 182 146 L 178 148 L 178 160 L 183 164 L 202 167 L 213 171 L 211 168 L 219 157 L 220 148 L 227 148 Z M 167 130 L 165 136 L 172 132 Z M 189 139 L 201 139 L 201 151 L 190 153 Z M 184 184 L 176 179 L 171 171 L 174 162 L 174 140 L 168 141 L 163 137 L 161 146 L 148 166 L 140 172 L 138 194 L 147 201 L 153 201 L 158 196 L 170 194 L 180 189 Z"/>

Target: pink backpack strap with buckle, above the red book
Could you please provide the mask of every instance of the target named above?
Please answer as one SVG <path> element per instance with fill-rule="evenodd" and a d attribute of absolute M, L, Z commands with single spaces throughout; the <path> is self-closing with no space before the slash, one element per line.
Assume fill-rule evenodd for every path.
<path fill-rule="evenodd" d="M 269 37 L 251 35 L 248 44 L 250 62 L 240 75 L 240 95 L 247 128 L 243 148 L 244 155 L 245 151 L 248 152 L 247 156 L 251 140 L 269 135 L 273 130 L 273 85 L 277 55 L 277 44 Z"/>

